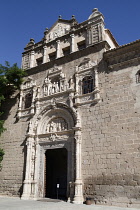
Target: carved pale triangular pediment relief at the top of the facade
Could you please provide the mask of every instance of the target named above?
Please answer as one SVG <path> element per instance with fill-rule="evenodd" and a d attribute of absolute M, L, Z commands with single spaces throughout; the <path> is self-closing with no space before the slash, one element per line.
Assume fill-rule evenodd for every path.
<path fill-rule="evenodd" d="M 64 36 L 70 31 L 70 23 L 68 20 L 58 20 L 50 28 L 47 34 L 48 41 L 54 40 L 58 37 Z"/>

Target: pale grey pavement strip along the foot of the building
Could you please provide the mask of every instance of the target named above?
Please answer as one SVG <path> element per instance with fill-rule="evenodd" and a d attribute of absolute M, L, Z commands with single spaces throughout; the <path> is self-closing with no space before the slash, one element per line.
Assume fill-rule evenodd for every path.
<path fill-rule="evenodd" d="M 0 197 L 0 210 L 128 210 L 128 208 L 114 206 L 99 206 L 85 204 L 71 204 L 58 200 L 20 200 L 20 198 Z M 130 208 L 131 210 L 138 210 Z"/>

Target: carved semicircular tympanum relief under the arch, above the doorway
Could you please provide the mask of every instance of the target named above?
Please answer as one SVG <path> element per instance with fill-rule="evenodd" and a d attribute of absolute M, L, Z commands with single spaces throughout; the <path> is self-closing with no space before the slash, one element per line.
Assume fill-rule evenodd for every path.
<path fill-rule="evenodd" d="M 68 130 L 68 123 L 66 122 L 65 119 L 58 117 L 52 119 L 46 127 L 47 133 L 52 133 L 52 132 L 59 132 L 59 131 L 65 131 Z"/>

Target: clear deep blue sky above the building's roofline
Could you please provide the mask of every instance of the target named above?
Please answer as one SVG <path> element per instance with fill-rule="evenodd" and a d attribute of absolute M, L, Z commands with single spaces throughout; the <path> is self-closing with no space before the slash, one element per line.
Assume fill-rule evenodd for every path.
<path fill-rule="evenodd" d="M 78 22 L 98 8 L 120 45 L 140 39 L 140 0 L 0 0 L 0 63 L 21 65 L 21 56 L 30 38 L 43 38 L 59 15 Z"/>

